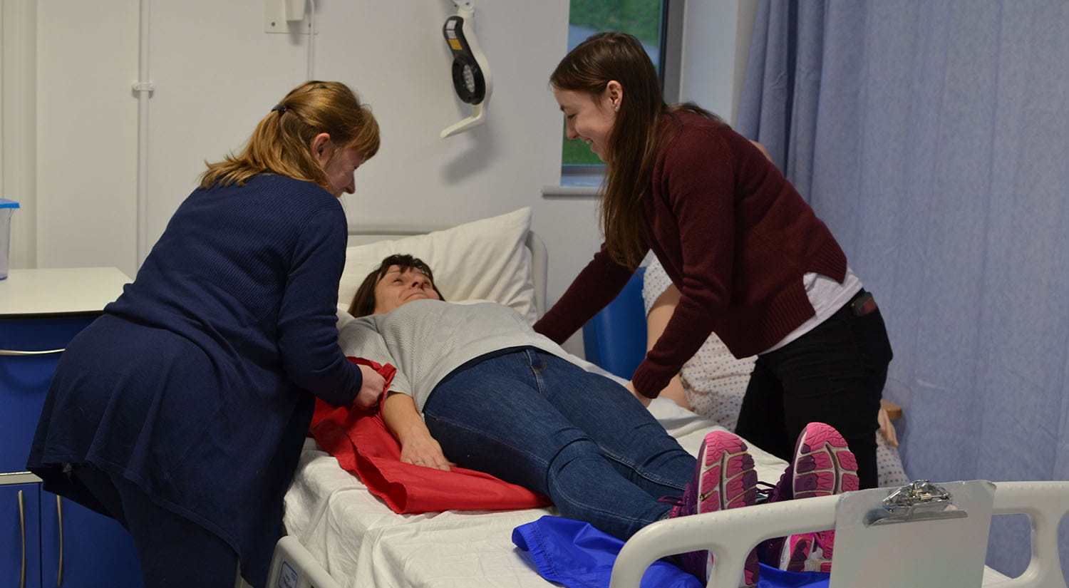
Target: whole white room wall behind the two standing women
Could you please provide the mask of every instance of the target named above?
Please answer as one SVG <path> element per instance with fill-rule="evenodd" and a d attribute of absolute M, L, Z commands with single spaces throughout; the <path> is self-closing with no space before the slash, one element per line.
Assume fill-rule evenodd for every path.
<path fill-rule="evenodd" d="M 151 0 L 149 244 L 195 187 L 204 160 L 238 149 L 306 79 L 307 35 L 264 32 L 264 2 Z M 566 51 L 568 1 L 475 2 L 493 73 L 489 121 L 449 139 L 438 133 L 470 112 L 453 93 L 440 32 L 452 2 L 315 3 L 314 77 L 354 88 L 383 130 L 382 149 L 357 171 L 357 192 L 344 200 L 350 222 L 448 226 L 531 206 L 533 229 L 549 250 L 548 301 L 555 301 L 601 242 L 593 199 L 539 192 L 559 183 L 561 119 L 547 77 Z M 13 226 L 12 266 L 117 266 L 133 276 L 139 2 L 0 4 L 4 15 L 15 6 L 16 16 L 36 24 L 28 33 L 32 51 L 15 52 L 30 62 L 22 79 L 35 79 L 35 92 L 24 92 L 33 104 L 18 107 L 35 120 L 33 136 L 14 144 L 4 128 L 4 186 L 28 186 Z M 739 4 L 687 3 L 683 98 L 723 113 L 741 79 L 733 53 Z M 33 5 L 35 13 L 26 7 Z M 15 59 L 12 43 L 5 34 L 5 67 Z M 14 108 L 6 99 L 13 73 L 3 74 L 5 121 Z M 32 157 L 14 156 L 18 145 L 30 145 Z M 7 173 L 13 159 L 30 164 Z M 577 351 L 576 341 L 568 346 Z"/>

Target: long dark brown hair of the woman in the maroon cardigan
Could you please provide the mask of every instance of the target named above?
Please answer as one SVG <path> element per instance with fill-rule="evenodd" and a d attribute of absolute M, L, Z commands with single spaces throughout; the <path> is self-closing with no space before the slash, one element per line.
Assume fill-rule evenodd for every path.
<path fill-rule="evenodd" d="M 613 261 L 635 268 L 642 261 L 642 199 L 653 181 L 663 115 L 686 110 L 719 119 L 693 104 L 666 105 L 653 62 L 628 33 L 590 36 L 569 51 L 549 76 L 554 88 L 591 97 L 601 96 L 614 80 L 623 88 L 623 99 L 607 141 L 602 232 Z"/>

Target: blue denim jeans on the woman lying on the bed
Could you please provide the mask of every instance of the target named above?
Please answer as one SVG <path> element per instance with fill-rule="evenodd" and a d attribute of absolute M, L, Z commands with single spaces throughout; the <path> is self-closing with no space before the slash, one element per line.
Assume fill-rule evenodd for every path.
<path fill-rule="evenodd" d="M 625 388 L 534 347 L 483 356 L 423 406 L 450 461 L 549 497 L 626 540 L 664 519 L 695 459 Z"/>

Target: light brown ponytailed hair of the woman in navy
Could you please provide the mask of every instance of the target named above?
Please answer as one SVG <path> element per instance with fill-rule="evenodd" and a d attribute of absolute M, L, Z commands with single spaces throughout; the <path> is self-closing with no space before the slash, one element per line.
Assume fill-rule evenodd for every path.
<path fill-rule="evenodd" d="M 312 139 L 320 133 L 338 145 L 331 158 L 356 148 L 365 159 L 378 152 L 378 123 L 367 105 L 344 83 L 306 81 L 294 88 L 257 125 L 237 155 L 207 164 L 201 187 L 244 184 L 258 173 L 277 173 L 314 182 L 330 191 L 326 173 L 312 158 Z"/>

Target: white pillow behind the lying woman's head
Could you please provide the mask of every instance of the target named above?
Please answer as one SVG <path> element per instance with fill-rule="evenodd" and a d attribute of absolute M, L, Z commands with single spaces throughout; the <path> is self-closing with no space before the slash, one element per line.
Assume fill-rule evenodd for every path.
<path fill-rule="evenodd" d="M 530 220 L 531 211 L 525 207 L 444 231 L 348 247 L 338 308 L 348 309 L 360 282 L 384 258 L 410 253 L 431 266 L 435 285 L 447 300 L 494 300 L 533 323 L 538 308 L 530 251 L 524 246 Z"/>

